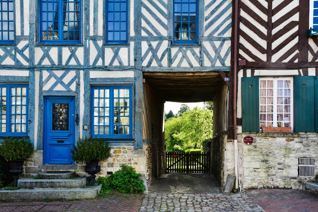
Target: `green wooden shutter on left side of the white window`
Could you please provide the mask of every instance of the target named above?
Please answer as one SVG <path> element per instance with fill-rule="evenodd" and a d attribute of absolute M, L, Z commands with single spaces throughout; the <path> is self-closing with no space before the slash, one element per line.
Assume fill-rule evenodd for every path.
<path fill-rule="evenodd" d="M 242 131 L 259 132 L 258 77 L 242 77 Z"/>

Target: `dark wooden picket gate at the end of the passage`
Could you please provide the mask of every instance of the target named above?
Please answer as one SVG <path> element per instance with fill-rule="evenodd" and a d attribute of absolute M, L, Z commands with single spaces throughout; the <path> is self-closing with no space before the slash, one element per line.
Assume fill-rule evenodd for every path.
<path fill-rule="evenodd" d="M 210 154 L 166 152 L 167 172 L 210 173 Z"/>

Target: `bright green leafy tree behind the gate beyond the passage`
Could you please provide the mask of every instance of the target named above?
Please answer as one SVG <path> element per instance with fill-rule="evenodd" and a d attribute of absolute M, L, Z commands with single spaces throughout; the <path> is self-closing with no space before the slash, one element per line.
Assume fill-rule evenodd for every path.
<path fill-rule="evenodd" d="M 195 107 L 182 116 L 165 123 L 165 142 L 167 151 L 189 148 L 202 148 L 202 143 L 213 136 L 213 112 Z"/>

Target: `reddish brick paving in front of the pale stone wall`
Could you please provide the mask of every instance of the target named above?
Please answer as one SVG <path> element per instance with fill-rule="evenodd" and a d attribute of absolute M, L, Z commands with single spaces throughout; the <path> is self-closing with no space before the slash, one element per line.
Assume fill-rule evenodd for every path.
<path fill-rule="evenodd" d="M 318 198 L 302 190 L 264 189 L 245 194 L 266 212 L 318 212 Z"/>

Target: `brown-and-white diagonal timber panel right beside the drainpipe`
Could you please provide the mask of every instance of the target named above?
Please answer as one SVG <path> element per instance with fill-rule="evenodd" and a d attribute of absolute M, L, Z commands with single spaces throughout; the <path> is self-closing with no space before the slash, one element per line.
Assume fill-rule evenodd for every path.
<path fill-rule="evenodd" d="M 266 61 L 267 12 L 265 0 L 241 1 L 240 59 Z"/>

